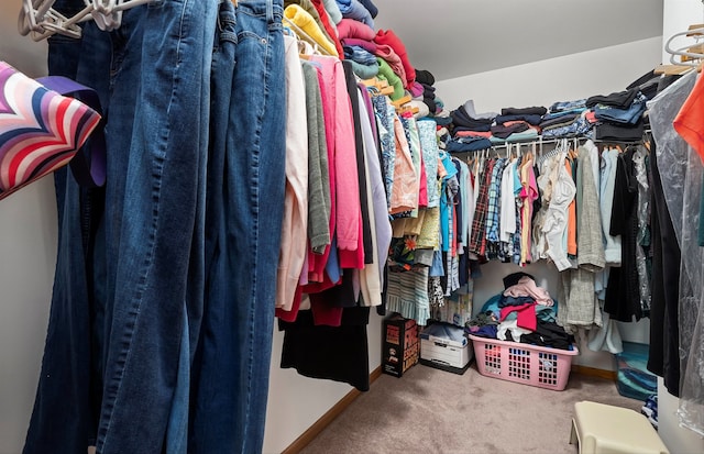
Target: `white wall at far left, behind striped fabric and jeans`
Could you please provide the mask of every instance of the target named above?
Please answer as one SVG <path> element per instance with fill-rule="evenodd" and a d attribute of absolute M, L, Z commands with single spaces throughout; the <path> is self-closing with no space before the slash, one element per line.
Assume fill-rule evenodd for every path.
<path fill-rule="evenodd" d="M 16 32 L 20 1 L 0 0 L 0 59 L 46 74 L 46 43 Z M 0 453 L 22 451 L 38 380 L 56 257 L 51 176 L 0 201 Z"/>

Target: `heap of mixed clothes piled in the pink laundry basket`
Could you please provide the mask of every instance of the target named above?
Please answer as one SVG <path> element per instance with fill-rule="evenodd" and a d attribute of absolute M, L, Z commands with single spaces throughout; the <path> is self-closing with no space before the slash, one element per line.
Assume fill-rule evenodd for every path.
<path fill-rule="evenodd" d="M 470 334 L 571 350 L 574 337 L 556 322 L 557 301 L 527 273 L 504 277 L 504 291 L 492 297 L 466 323 Z"/>

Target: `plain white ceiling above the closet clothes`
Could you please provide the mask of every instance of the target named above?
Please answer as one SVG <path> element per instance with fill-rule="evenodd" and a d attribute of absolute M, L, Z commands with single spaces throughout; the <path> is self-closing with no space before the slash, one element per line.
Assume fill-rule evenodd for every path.
<path fill-rule="evenodd" d="M 663 0 L 372 0 L 436 80 L 662 35 Z M 576 69 L 576 68 L 575 68 Z"/>

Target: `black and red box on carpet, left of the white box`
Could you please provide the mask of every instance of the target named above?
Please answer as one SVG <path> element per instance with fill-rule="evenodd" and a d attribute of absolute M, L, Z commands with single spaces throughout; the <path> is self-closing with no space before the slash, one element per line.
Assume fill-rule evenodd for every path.
<path fill-rule="evenodd" d="M 400 377 L 418 363 L 418 325 L 415 320 L 392 313 L 384 319 L 382 339 L 382 370 Z"/>

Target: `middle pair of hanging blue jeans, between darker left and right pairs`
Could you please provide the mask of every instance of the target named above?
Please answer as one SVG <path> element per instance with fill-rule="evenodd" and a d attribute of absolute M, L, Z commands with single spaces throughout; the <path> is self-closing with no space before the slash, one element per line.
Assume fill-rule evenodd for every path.
<path fill-rule="evenodd" d="M 102 453 L 186 449 L 186 435 L 175 439 L 172 425 L 187 427 L 188 402 L 175 396 L 188 396 L 184 359 L 193 356 L 202 314 L 217 5 L 157 0 L 125 11 L 112 33 L 106 226 L 113 230 L 106 230 L 106 256 L 114 284 L 108 280 Z"/>

